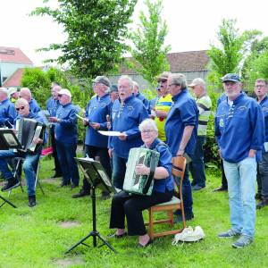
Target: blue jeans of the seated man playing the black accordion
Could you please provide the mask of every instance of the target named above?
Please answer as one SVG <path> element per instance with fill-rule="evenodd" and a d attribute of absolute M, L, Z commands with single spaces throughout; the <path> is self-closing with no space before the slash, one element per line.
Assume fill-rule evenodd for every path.
<path fill-rule="evenodd" d="M 0 171 L 4 175 L 5 180 L 13 179 L 13 173 L 9 170 L 6 160 L 13 157 L 23 157 L 23 171 L 25 173 L 27 182 L 28 196 L 34 196 L 36 194 L 35 182 L 36 171 L 38 169 L 39 154 L 30 155 L 25 153 L 14 153 L 13 150 L 0 151 Z"/>

